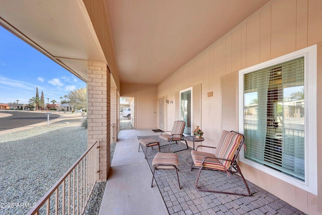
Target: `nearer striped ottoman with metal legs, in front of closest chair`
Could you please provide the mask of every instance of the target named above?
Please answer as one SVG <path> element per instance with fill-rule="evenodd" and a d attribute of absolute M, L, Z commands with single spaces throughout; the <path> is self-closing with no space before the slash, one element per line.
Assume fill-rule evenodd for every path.
<path fill-rule="evenodd" d="M 153 167 L 153 176 L 152 176 L 151 187 L 153 186 L 155 169 L 164 169 L 164 170 L 177 171 L 179 189 L 181 189 L 179 175 L 178 175 L 179 160 L 178 160 L 178 155 L 176 153 L 171 153 L 171 152 L 156 153 L 152 161 L 152 167 Z"/>

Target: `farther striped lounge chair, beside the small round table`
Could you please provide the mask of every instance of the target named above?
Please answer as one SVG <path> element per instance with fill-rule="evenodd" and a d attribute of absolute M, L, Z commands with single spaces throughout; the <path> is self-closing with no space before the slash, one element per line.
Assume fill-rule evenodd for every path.
<path fill-rule="evenodd" d="M 185 141 L 187 145 L 187 149 L 189 149 L 187 141 L 183 139 L 183 130 L 185 129 L 185 125 L 186 125 L 185 121 L 175 121 L 170 134 L 164 133 L 164 132 L 170 132 L 170 131 L 162 131 L 160 133 L 159 135 L 160 143 L 161 143 L 161 139 L 169 142 L 169 152 L 170 152 L 171 142 L 173 141 L 176 141 L 177 144 L 178 144 L 178 141 L 180 140 Z"/>

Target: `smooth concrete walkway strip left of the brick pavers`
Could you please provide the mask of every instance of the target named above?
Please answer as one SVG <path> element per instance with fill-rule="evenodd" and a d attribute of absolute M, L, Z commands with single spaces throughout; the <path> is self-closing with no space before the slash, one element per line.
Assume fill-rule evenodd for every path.
<path fill-rule="evenodd" d="M 169 214 L 157 186 L 151 188 L 152 173 L 138 153 L 141 135 L 155 135 L 151 129 L 121 130 L 99 214 Z"/>

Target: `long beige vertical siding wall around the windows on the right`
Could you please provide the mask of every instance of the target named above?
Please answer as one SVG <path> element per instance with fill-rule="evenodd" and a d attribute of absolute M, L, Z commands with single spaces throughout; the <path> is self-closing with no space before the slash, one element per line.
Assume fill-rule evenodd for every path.
<path fill-rule="evenodd" d="M 214 146 L 221 132 L 221 77 L 319 41 L 322 41 L 321 0 L 271 1 L 160 83 L 157 98 L 165 96 L 178 103 L 176 92 L 201 83 L 203 143 Z M 321 70 L 318 73 L 321 80 Z M 213 97 L 207 97 L 207 92 L 213 92 Z M 321 105 L 320 89 L 317 100 Z M 169 129 L 175 120 L 178 105 L 166 105 L 165 127 Z M 317 110 L 320 110 L 320 106 Z M 320 131 L 322 115 L 318 114 L 317 117 L 317 130 Z M 321 134 L 318 137 L 317 157 L 321 160 Z M 319 162 L 319 182 L 322 181 L 321 166 Z M 306 213 L 321 214 L 322 206 L 317 206 L 322 205 L 321 185 L 318 185 L 319 195 L 316 196 L 245 164 L 241 164 L 241 167 L 251 182 Z"/>

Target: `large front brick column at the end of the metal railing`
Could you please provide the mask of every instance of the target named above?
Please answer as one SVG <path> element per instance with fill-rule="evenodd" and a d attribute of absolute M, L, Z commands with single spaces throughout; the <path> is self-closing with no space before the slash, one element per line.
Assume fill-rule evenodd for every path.
<path fill-rule="evenodd" d="M 99 147 L 99 182 L 106 181 L 110 162 L 110 72 L 106 63 L 88 62 L 88 145 Z"/>

